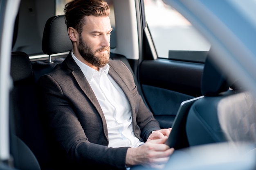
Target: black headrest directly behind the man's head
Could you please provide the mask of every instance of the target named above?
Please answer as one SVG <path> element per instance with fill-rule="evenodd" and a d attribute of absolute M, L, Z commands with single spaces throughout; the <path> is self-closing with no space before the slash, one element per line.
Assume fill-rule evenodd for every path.
<path fill-rule="evenodd" d="M 52 55 L 72 50 L 72 42 L 67 34 L 65 15 L 50 17 L 44 28 L 42 50 Z"/>

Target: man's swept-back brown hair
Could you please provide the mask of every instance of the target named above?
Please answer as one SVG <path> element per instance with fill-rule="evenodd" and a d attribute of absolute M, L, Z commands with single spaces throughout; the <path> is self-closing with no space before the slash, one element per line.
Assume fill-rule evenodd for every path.
<path fill-rule="evenodd" d="M 108 16 L 110 8 L 105 0 L 72 0 L 65 5 L 67 28 L 73 27 L 81 34 L 85 16 Z"/>

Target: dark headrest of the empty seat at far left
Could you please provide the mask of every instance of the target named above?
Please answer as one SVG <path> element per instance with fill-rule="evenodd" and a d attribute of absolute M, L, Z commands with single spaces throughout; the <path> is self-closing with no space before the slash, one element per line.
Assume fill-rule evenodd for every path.
<path fill-rule="evenodd" d="M 25 52 L 11 52 L 11 77 L 14 84 L 33 78 L 32 65 Z"/>

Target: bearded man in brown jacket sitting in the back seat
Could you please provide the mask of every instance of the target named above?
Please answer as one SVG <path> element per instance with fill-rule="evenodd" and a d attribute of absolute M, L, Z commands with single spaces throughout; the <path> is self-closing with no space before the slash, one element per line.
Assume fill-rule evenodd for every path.
<path fill-rule="evenodd" d="M 38 82 L 52 140 L 81 169 L 162 167 L 171 129 L 159 128 L 126 65 L 109 60 L 108 4 L 73 0 L 64 11 L 73 50 Z"/>

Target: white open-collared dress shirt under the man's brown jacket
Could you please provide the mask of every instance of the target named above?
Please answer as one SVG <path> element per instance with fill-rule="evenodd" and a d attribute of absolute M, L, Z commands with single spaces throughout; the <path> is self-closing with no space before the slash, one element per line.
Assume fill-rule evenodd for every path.
<path fill-rule="evenodd" d="M 99 71 L 90 68 L 72 57 L 90 83 L 108 126 L 108 147 L 138 147 L 141 142 L 132 130 L 132 113 L 128 99 L 123 90 L 108 74 L 109 65 Z"/>

